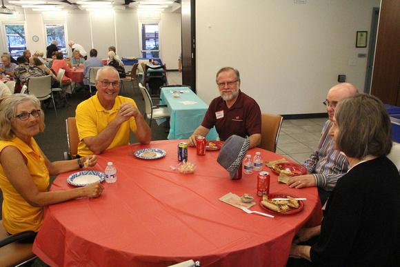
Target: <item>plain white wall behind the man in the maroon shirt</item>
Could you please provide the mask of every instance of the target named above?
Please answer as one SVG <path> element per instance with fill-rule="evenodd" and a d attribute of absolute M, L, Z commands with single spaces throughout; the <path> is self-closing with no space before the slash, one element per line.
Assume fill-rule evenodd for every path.
<path fill-rule="evenodd" d="M 215 74 L 223 66 L 241 73 L 241 89 L 261 112 L 326 112 L 322 101 L 337 75 L 363 92 L 368 48 L 355 48 L 368 31 L 379 0 L 202 0 L 196 2 L 197 92 L 218 96 Z M 212 6 L 212 8 L 210 8 Z M 355 59 L 357 66 L 349 66 Z"/>

